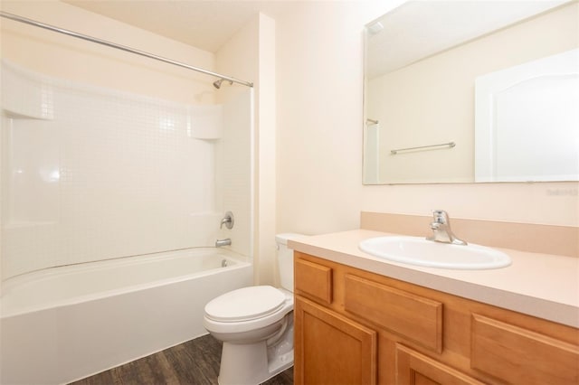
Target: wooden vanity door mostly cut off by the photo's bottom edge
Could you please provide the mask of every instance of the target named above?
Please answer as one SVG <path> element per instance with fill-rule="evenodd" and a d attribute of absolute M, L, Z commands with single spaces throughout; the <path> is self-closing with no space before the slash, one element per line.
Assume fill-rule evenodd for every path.
<path fill-rule="evenodd" d="M 460 371 L 432 360 L 399 343 L 396 344 L 397 385 L 482 385 Z"/>

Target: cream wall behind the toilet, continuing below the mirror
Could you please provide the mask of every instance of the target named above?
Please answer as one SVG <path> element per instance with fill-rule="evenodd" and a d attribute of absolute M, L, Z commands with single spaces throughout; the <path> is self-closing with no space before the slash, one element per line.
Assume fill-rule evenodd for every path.
<path fill-rule="evenodd" d="M 579 226 L 579 183 L 362 185 L 362 26 L 394 2 L 304 3 L 277 22 L 277 230 L 356 229 L 360 211 Z"/>

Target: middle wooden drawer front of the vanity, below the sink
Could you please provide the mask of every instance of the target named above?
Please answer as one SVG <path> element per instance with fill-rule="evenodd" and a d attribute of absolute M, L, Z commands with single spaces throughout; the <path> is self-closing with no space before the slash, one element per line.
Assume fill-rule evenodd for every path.
<path fill-rule="evenodd" d="M 346 274 L 344 307 L 386 329 L 442 352 L 442 304 Z"/>

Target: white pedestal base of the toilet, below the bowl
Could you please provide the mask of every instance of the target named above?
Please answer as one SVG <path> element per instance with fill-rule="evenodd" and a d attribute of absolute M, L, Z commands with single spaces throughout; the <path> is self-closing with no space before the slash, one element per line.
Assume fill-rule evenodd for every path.
<path fill-rule="evenodd" d="M 220 385 L 257 385 L 293 365 L 293 350 L 271 357 L 268 347 L 260 343 L 223 343 L 221 366 L 217 381 Z"/>

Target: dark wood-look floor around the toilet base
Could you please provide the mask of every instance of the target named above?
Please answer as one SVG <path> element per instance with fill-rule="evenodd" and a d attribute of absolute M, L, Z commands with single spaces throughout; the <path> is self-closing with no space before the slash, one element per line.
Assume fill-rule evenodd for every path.
<path fill-rule="evenodd" d="M 216 385 L 220 360 L 221 343 L 207 334 L 71 385 Z M 293 368 L 264 384 L 293 384 Z"/>

